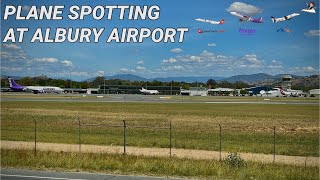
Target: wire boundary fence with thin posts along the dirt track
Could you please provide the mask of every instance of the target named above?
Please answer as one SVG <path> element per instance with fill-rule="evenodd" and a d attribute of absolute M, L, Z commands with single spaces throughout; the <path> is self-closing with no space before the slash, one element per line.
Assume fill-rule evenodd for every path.
<path fill-rule="evenodd" d="M 39 128 L 37 127 L 37 120 L 34 116 L 32 116 L 33 123 L 34 123 L 34 155 L 37 155 L 37 142 L 38 142 L 38 134 Z M 127 130 L 130 129 L 151 129 L 151 130 L 165 130 L 167 131 L 167 144 L 168 144 L 168 155 L 172 157 L 172 148 L 173 147 L 173 132 L 174 128 L 172 123 L 170 122 L 167 126 L 137 126 L 137 125 L 130 125 L 126 122 L 126 120 L 122 120 L 121 124 L 86 124 L 82 123 L 81 119 L 77 117 L 76 119 L 77 123 L 75 125 L 75 128 L 77 128 L 77 137 L 78 137 L 78 151 L 81 153 L 81 146 L 84 144 L 82 142 L 82 136 L 84 136 L 83 130 L 87 127 L 106 127 L 106 128 L 118 128 L 122 129 L 122 146 L 123 146 L 123 155 L 127 154 L 127 146 L 128 146 L 128 134 Z M 217 128 L 215 129 L 218 131 L 219 138 L 215 139 L 215 141 L 219 144 L 219 160 L 222 161 L 222 152 L 223 152 L 223 126 L 221 124 L 217 124 Z M 214 131 L 214 129 L 212 130 Z M 130 135 L 129 135 L 130 136 Z M 276 146 L 277 146 L 277 132 L 276 132 L 276 126 L 273 126 L 273 142 L 272 142 L 272 151 L 273 151 L 273 163 L 276 163 Z M 216 157 L 217 158 L 217 157 Z M 306 157 L 307 158 L 307 157 Z"/>

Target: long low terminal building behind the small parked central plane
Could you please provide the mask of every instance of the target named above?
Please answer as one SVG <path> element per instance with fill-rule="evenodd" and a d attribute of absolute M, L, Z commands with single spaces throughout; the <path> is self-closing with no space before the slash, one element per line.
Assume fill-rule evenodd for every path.
<path fill-rule="evenodd" d="M 148 90 L 158 90 L 162 95 L 179 95 L 179 86 L 144 86 Z M 100 94 L 142 94 L 139 89 L 141 86 L 128 86 L 128 85 L 100 85 Z"/>

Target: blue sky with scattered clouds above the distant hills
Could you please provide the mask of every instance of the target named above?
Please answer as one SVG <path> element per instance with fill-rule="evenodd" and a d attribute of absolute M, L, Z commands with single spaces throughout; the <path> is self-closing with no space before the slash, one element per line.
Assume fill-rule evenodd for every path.
<path fill-rule="evenodd" d="M 26 15 L 30 6 L 64 5 L 64 18 L 57 20 L 3 20 L 6 5 L 23 6 Z M 158 5 L 160 18 L 151 20 L 84 20 L 67 18 L 72 5 Z M 239 7 L 241 6 L 241 7 Z M 319 7 L 319 4 L 316 3 Z M 47 75 L 83 80 L 97 75 L 130 73 L 142 77 L 223 76 L 238 74 L 319 74 L 319 12 L 302 12 L 304 0 L 246 1 L 1 1 L 1 74 L 10 76 Z M 230 11 L 238 11 L 262 24 L 241 23 Z M 316 9 L 319 11 L 319 8 Z M 283 17 L 299 13 L 289 21 L 272 23 L 270 16 Z M 116 17 L 117 13 L 113 14 Z M 195 21 L 196 18 L 223 25 Z M 3 43 L 10 27 L 28 27 L 23 43 Z M 105 28 L 99 43 L 30 43 L 36 28 L 57 27 Z M 123 27 L 187 27 L 183 43 L 106 43 L 109 32 Z M 241 29 L 254 29 L 253 35 L 241 35 Z M 288 28 L 291 33 L 277 32 Z M 224 33 L 203 31 L 224 30 Z"/>

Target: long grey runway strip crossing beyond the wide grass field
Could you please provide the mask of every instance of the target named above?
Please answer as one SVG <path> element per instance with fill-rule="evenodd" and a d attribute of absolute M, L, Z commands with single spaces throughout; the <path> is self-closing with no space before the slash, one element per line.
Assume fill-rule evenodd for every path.
<path fill-rule="evenodd" d="M 91 102 L 91 103 L 207 103 L 207 104 L 319 104 L 317 98 L 265 98 L 265 97 L 228 97 L 228 96 L 177 96 L 177 95 L 140 95 L 140 94 L 27 94 L 1 93 L 1 101 L 31 102 Z"/>

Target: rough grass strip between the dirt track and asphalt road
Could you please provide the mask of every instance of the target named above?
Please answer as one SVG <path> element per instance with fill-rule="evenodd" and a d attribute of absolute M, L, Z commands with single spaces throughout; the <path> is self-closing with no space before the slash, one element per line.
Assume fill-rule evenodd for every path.
<path fill-rule="evenodd" d="M 2 167 L 87 171 L 206 179 L 319 179 L 318 167 L 93 153 L 1 149 Z"/>

